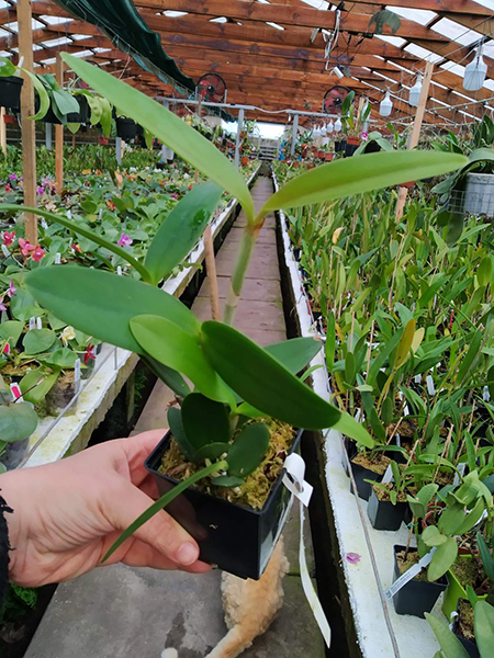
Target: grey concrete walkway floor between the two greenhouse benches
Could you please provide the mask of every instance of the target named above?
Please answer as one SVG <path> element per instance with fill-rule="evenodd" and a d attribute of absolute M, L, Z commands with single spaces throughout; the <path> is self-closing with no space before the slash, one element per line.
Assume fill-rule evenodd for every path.
<path fill-rule="evenodd" d="M 256 208 L 271 193 L 271 180 L 259 178 L 252 188 Z M 223 300 L 245 222 L 240 213 L 217 254 Z M 235 321 L 262 345 L 287 338 L 274 226 L 270 215 L 252 256 Z M 201 320 L 211 318 L 207 292 L 205 282 L 192 306 Z M 171 392 L 157 383 L 134 433 L 166 428 L 171 398 Z M 243 654 L 245 658 L 324 657 L 323 640 L 299 577 L 294 512 L 284 536 L 291 565 L 284 579 L 284 605 L 269 631 Z M 314 571 L 308 533 L 305 543 Z M 178 649 L 179 658 L 204 658 L 226 633 L 220 580 L 220 571 L 190 576 L 122 565 L 96 569 L 58 587 L 25 658 L 160 658 L 169 646 Z"/>

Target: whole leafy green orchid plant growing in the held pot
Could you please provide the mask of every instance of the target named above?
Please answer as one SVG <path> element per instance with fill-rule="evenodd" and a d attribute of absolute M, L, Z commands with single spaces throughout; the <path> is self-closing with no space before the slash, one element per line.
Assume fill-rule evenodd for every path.
<path fill-rule="evenodd" d="M 293 179 L 256 214 L 243 177 L 211 143 L 161 105 L 120 80 L 77 58 L 67 55 L 64 58 L 96 91 L 104 93 L 120 111 L 133 116 L 212 181 L 195 186 L 175 207 L 158 229 L 144 262 L 131 258 L 123 249 L 106 243 L 100 236 L 81 229 L 61 215 L 40 213 L 126 259 L 142 281 L 70 265 L 64 266 L 64 276 L 60 277 L 57 268 L 40 266 L 25 277 L 27 290 L 43 307 L 77 329 L 138 353 L 183 400 L 180 413 L 184 435 L 193 442 L 193 454 L 202 457 L 200 451 L 205 446 L 210 455 L 207 460 L 212 462 L 151 506 L 124 536 L 128 536 L 192 481 L 214 473 L 228 477 L 245 475 L 247 460 L 256 452 L 255 443 L 266 444 L 266 430 L 259 417 L 272 417 L 297 428 L 334 427 L 363 445 L 372 446 L 373 441 L 361 424 L 319 398 L 295 377 L 294 373 L 300 372 L 315 353 L 317 345 L 314 347 L 312 339 L 261 349 L 231 326 L 250 256 L 266 215 L 277 208 L 303 206 L 344 197 L 357 190 L 370 191 L 397 184 L 418 178 L 419 173 L 445 173 L 462 166 L 464 159 L 435 152 L 396 152 L 339 161 Z M 178 299 L 154 286 L 195 243 L 225 189 L 243 205 L 247 226 L 234 266 L 224 321 L 201 324 Z M 12 211 L 12 206 L 2 205 L 0 208 Z M 192 382 L 194 392 L 190 390 L 182 375 Z M 240 462 L 235 455 L 243 454 L 240 447 L 247 444 L 244 432 L 234 435 L 233 444 L 232 434 L 225 433 L 221 441 L 223 452 L 218 453 L 220 449 L 212 446 L 210 439 L 201 439 L 206 430 L 198 429 L 198 433 L 187 431 L 189 399 L 199 395 L 203 401 L 226 406 L 234 428 L 240 416 L 252 419 L 248 427 L 255 430 L 249 430 L 249 433 L 255 431 L 257 438 L 251 440 L 252 449 L 246 449 L 246 456 Z M 207 415 L 202 418 L 201 428 L 209 422 Z M 240 436 L 244 438 L 235 447 Z M 228 450 L 225 445 L 229 446 Z M 261 452 L 259 449 L 257 460 Z M 243 472 L 238 464 L 244 461 Z"/>

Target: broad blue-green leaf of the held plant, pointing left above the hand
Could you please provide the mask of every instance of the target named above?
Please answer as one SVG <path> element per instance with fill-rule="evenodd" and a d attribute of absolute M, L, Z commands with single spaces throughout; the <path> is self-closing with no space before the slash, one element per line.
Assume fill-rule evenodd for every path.
<path fill-rule="evenodd" d="M 25 285 L 44 308 L 101 341 L 142 354 L 130 321 L 147 314 L 191 334 L 200 328 L 187 306 L 147 283 L 76 265 L 64 265 L 60 272 L 60 265 L 37 268 L 25 276 Z"/>

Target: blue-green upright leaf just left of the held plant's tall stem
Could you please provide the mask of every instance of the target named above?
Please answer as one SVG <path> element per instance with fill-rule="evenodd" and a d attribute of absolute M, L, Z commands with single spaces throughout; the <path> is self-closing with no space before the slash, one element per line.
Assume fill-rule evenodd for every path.
<path fill-rule="evenodd" d="M 146 254 L 145 266 L 151 283 L 159 283 L 189 254 L 204 232 L 220 203 L 222 190 L 215 183 L 195 185 L 162 222 Z"/>

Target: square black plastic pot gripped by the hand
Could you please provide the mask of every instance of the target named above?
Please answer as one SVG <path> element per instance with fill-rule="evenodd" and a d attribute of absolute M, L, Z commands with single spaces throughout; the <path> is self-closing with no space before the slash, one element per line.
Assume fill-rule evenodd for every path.
<path fill-rule="evenodd" d="M 300 450 L 302 434 L 303 431 L 296 435 L 291 453 Z M 145 463 L 156 480 L 160 496 L 178 484 L 158 470 L 170 439 L 171 433 L 167 432 Z M 261 510 L 252 510 L 189 488 L 166 511 L 197 540 L 203 561 L 217 565 L 234 576 L 258 580 L 271 557 L 292 504 L 292 495 L 281 481 L 283 474 L 284 470 Z"/>

